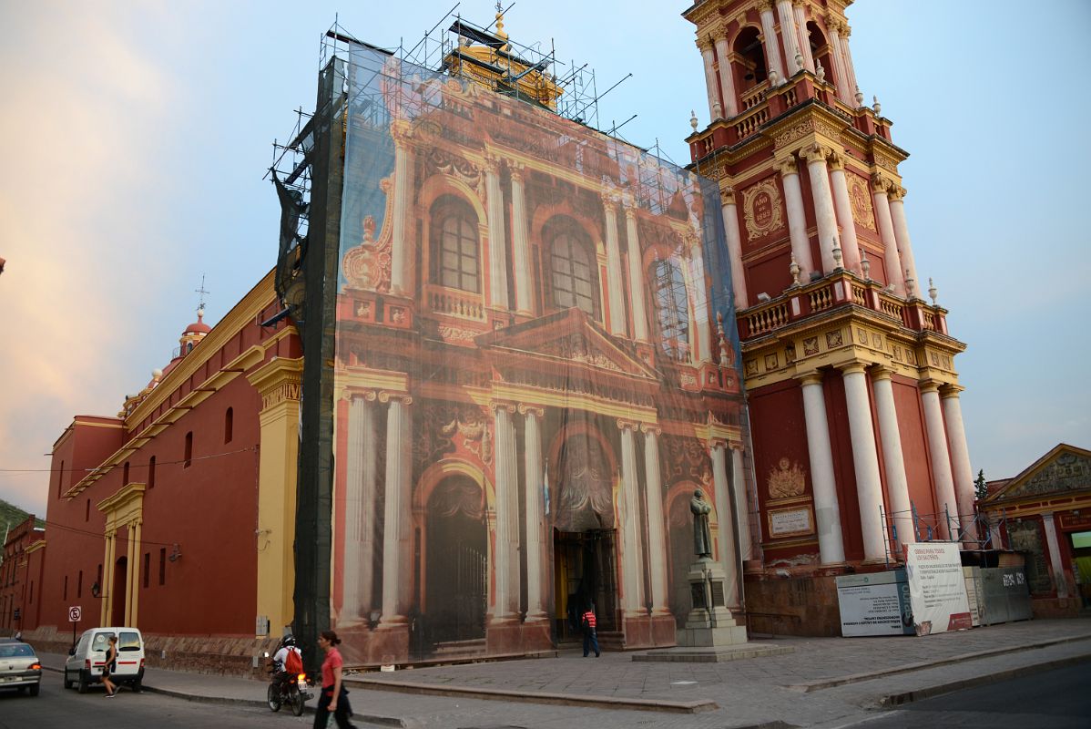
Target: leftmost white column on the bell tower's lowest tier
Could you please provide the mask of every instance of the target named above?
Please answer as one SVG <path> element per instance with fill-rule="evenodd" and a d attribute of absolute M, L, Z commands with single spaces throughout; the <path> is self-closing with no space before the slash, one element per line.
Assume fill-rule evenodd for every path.
<path fill-rule="evenodd" d="M 844 541 L 841 538 L 841 510 L 837 503 L 834 454 L 829 446 L 829 423 L 826 419 L 822 374 L 805 374 L 800 384 L 803 390 L 803 417 L 807 427 L 811 488 L 815 497 L 818 555 L 823 564 L 837 564 L 844 562 Z"/>

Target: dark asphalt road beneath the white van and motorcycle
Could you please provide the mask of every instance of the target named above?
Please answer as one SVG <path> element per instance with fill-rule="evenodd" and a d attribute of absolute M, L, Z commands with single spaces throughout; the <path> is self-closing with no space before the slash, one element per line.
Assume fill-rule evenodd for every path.
<path fill-rule="evenodd" d="M 314 722 L 313 714 L 295 717 L 287 708 L 240 704 L 205 704 L 151 692 L 134 694 L 127 689 L 105 698 L 100 686 L 80 695 L 65 691 L 60 674 L 46 672 L 37 696 L 0 691 L 0 729 L 194 729 L 196 727 L 261 727 L 302 729 Z M 313 702 L 311 702 L 313 705 Z M 357 726 L 363 727 L 357 722 Z"/>

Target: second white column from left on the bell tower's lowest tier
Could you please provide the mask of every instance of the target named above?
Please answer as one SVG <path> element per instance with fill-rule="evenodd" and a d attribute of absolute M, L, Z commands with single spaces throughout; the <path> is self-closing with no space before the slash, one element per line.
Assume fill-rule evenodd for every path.
<path fill-rule="evenodd" d="M 883 534 L 883 481 L 875 450 L 871 398 L 864 364 L 853 362 L 841 369 L 844 399 L 849 409 L 849 432 L 852 438 L 852 467 L 856 474 L 856 499 L 860 502 L 860 526 L 864 539 L 864 559 L 884 560 L 887 555 Z"/>

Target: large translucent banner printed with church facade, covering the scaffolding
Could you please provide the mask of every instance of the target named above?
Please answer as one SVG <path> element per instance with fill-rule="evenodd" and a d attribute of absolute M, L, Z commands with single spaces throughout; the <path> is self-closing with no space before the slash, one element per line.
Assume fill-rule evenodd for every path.
<path fill-rule="evenodd" d="M 673 644 L 694 490 L 724 563 L 747 519 L 717 186 L 546 106 L 350 56 L 331 586 L 346 660 L 549 647 L 591 605 L 604 636 Z"/>

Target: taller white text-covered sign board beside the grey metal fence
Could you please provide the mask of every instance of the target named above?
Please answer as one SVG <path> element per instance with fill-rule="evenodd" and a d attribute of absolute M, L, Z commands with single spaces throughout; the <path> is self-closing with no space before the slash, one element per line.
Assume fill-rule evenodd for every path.
<path fill-rule="evenodd" d="M 902 549 L 916 634 L 971 628 L 970 601 L 958 545 L 919 542 Z"/>

